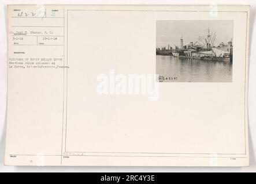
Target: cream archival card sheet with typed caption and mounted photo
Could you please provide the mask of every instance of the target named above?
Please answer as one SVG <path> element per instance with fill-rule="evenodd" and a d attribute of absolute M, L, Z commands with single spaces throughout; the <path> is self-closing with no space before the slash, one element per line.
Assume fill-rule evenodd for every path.
<path fill-rule="evenodd" d="M 8 6 L 6 165 L 248 166 L 249 6 Z"/>

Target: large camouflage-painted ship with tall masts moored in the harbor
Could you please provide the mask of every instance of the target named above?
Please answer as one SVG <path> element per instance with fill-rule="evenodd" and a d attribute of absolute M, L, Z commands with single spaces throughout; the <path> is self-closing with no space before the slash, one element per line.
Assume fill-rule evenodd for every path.
<path fill-rule="evenodd" d="M 210 29 L 207 29 L 207 36 L 205 39 L 199 36 L 198 41 L 195 43 L 184 45 L 183 36 L 180 39 L 180 47 L 175 45 L 175 49 L 172 50 L 172 55 L 175 57 L 184 57 L 192 59 L 203 60 L 219 60 L 219 61 L 231 61 L 233 56 L 232 39 L 228 44 L 220 43 L 217 47 L 214 46 L 216 40 L 216 33 L 211 33 Z"/>

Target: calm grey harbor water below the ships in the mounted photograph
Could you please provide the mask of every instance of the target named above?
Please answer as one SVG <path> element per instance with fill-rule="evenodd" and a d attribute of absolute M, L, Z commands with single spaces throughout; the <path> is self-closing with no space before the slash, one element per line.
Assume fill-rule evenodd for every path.
<path fill-rule="evenodd" d="M 157 55 L 162 82 L 232 82 L 232 62 Z"/>

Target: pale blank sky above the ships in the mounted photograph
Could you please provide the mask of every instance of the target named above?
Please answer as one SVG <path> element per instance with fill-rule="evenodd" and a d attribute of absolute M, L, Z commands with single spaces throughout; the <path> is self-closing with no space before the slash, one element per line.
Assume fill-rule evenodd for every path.
<path fill-rule="evenodd" d="M 233 21 L 231 20 L 198 20 L 198 21 L 157 21 L 157 47 L 180 47 L 183 36 L 184 45 L 190 41 L 198 41 L 198 37 L 205 38 L 207 29 L 216 33 L 214 45 L 221 42 L 228 43 L 233 38 Z"/>

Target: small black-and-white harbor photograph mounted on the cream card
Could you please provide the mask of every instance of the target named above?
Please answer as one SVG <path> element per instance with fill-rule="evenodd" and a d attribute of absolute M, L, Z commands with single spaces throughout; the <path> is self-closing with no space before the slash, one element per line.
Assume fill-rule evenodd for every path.
<path fill-rule="evenodd" d="M 232 82 L 233 21 L 156 22 L 158 82 Z"/>

